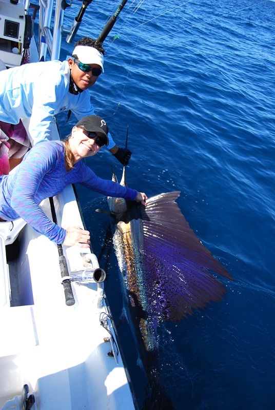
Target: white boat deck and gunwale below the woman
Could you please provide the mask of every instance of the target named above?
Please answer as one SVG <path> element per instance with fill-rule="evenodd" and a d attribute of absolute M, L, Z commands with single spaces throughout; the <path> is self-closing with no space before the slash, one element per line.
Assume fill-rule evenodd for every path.
<path fill-rule="evenodd" d="M 61 198 L 58 203 L 62 204 Z M 46 214 L 47 208 L 46 202 Z M 73 215 L 80 218 L 78 212 Z M 29 226 L 19 242 L 19 257 L 9 263 L 11 305 L 0 308 L 5 336 L 0 352 L 0 407 L 21 394 L 27 383 L 30 392 L 36 392 L 37 408 L 84 409 L 96 402 L 96 408 L 128 409 L 132 397 L 125 368 L 120 355 L 117 364 L 108 356 L 111 344 L 104 338 L 110 335 L 100 324 L 108 315 L 105 303 L 97 306 L 102 290 L 97 283 L 73 283 L 75 304 L 67 306 L 56 245 Z M 69 269 L 80 269 L 80 264 L 83 269 L 81 250 L 72 247 L 67 252 Z"/>

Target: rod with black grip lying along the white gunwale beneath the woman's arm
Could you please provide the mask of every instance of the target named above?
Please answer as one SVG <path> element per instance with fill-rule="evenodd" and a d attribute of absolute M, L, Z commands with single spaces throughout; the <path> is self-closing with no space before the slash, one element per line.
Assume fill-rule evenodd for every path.
<path fill-rule="evenodd" d="M 50 200 L 52 220 L 54 223 L 57 223 L 53 198 L 50 197 L 49 200 Z M 71 281 L 69 278 L 66 279 L 66 277 L 70 276 L 69 271 L 68 271 L 67 260 L 64 256 L 63 248 L 61 244 L 57 243 L 57 249 L 58 249 L 58 261 L 59 261 L 60 273 L 62 277 L 62 284 L 64 288 L 64 293 L 65 293 L 66 305 L 72 306 L 75 303 L 75 300 L 74 300 L 73 293 L 72 293 Z"/>

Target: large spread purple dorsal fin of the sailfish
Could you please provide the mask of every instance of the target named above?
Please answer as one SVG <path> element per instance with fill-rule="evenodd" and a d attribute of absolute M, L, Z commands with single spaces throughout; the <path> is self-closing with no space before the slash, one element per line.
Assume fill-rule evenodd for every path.
<path fill-rule="evenodd" d="M 150 309 L 166 320 L 180 320 L 221 299 L 224 286 L 209 271 L 232 279 L 189 227 L 175 202 L 179 195 L 180 191 L 156 195 L 142 209 Z"/>

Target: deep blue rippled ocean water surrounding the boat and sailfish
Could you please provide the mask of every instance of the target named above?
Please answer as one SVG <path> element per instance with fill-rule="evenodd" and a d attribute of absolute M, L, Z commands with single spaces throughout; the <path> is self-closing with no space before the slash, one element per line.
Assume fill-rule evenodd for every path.
<path fill-rule="evenodd" d="M 66 10 L 70 22 L 80 5 Z M 75 39 L 97 37 L 117 5 L 94 0 Z M 271 1 L 133 1 L 104 43 L 91 98 L 117 145 L 129 125 L 128 185 L 148 196 L 180 190 L 190 227 L 234 278 L 221 302 L 163 323 L 157 354 L 141 365 L 109 220 L 94 212 L 106 199 L 77 187 L 139 408 L 275 408 L 274 19 Z M 60 115 L 64 133 L 73 122 Z M 121 176 L 106 151 L 87 163 Z"/>

